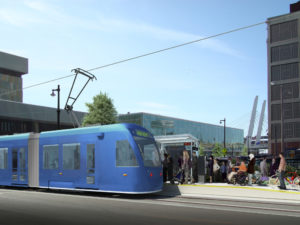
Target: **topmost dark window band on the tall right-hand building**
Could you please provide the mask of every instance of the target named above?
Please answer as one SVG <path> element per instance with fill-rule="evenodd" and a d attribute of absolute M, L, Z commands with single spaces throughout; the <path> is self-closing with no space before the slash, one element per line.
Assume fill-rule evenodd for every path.
<path fill-rule="evenodd" d="M 270 26 L 271 43 L 298 37 L 298 21 L 292 20 Z"/>

